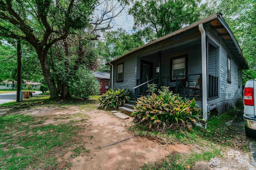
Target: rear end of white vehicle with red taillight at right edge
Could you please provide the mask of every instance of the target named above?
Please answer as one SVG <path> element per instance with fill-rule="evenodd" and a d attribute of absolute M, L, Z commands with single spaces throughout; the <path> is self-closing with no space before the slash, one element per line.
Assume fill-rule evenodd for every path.
<path fill-rule="evenodd" d="M 256 138 L 256 79 L 244 87 L 244 124 L 246 136 Z"/>

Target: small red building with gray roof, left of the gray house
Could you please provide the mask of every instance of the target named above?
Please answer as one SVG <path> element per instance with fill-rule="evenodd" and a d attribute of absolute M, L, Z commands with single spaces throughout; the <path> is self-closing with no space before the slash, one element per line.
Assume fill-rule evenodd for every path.
<path fill-rule="evenodd" d="M 97 78 L 98 82 L 101 85 L 100 93 L 105 93 L 109 89 L 109 72 L 94 72 L 94 76 Z"/>

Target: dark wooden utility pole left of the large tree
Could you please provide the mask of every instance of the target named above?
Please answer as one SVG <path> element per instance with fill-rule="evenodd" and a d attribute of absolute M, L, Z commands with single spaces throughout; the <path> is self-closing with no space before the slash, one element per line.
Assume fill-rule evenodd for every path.
<path fill-rule="evenodd" d="M 21 41 L 17 41 L 17 98 L 16 102 L 22 101 L 21 92 Z"/>

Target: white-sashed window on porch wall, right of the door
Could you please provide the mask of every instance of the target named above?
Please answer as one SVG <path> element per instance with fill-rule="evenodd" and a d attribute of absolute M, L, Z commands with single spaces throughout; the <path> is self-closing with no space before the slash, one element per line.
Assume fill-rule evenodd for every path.
<path fill-rule="evenodd" d="M 184 79 L 186 74 L 186 57 L 172 60 L 172 80 Z"/>

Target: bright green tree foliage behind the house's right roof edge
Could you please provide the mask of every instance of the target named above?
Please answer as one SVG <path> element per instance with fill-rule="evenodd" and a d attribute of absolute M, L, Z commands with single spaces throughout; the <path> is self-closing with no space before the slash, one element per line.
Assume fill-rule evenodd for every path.
<path fill-rule="evenodd" d="M 234 33 L 249 70 L 243 70 L 243 84 L 256 75 L 256 1 L 255 0 L 207 0 L 202 6 L 202 16 L 221 12 Z"/>

